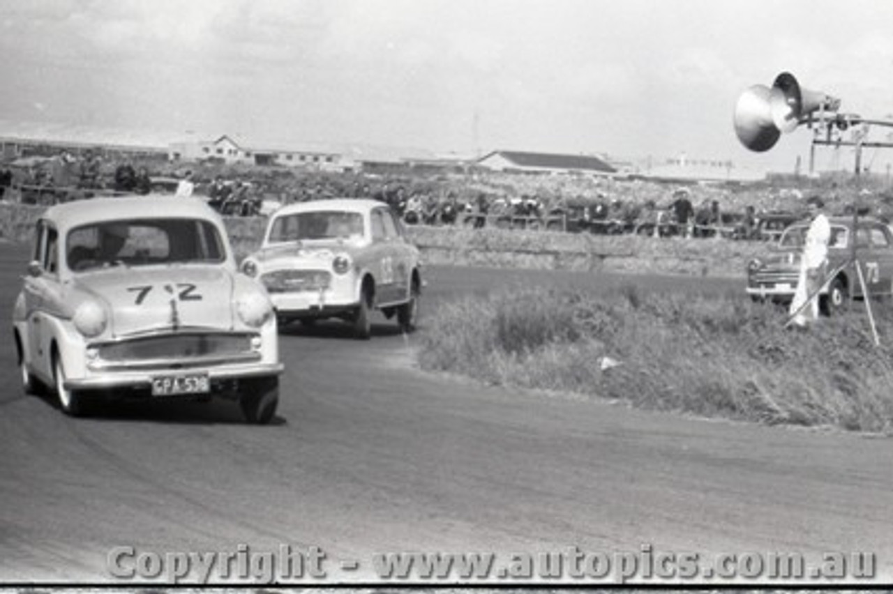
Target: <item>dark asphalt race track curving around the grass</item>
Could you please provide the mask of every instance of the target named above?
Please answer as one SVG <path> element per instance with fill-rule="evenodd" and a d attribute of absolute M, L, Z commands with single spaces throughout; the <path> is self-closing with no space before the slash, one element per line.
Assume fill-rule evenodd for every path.
<path fill-rule="evenodd" d="M 7 320 L 26 260 L 0 245 Z M 423 307 L 498 285 L 596 291 L 630 279 L 434 268 Z M 657 290 L 693 284 L 634 280 Z M 267 427 L 243 424 L 228 403 L 65 417 L 23 394 L 13 342 L 0 342 L 0 582 L 109 582 L 106 557 L 121 546 L 164 554 L 284 543 L 324 550 L 330 583 L 373 580 L 369 559 L 392 551 L 645 544 L 873 552 L 884 581 L 893 575 L 888 438 L 688 419 L 430 375 L 413 367 L 413 336 L 375 321 L 371 342 L 334 323 L 283 334 L 280 412 Z"/>

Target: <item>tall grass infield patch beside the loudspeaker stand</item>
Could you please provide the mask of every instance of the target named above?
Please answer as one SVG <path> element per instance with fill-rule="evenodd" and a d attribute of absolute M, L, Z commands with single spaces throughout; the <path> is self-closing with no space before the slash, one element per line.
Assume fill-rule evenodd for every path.
<path fill-rule="evenodd" d="M 893 309 L 863 306 L 808 331 L 739 294 L 606 297 L 523 289 L 443 305 L 421 334 L 422 367 L 484 382 L 579 392 L 635 406 L 766 424 L 887 431 Z M 603 369 L 604 358 L 620 365 Z"/>

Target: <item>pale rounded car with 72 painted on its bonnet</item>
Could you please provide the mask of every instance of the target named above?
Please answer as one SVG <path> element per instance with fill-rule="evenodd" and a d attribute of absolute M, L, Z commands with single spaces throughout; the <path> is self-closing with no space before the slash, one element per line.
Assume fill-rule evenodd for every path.
<path fill-rule="evenodd" d="M 69 202 L 46 210 L 36 237 L 13 309 L 26 392 L 53 386 L 73 416 L 100 396 L 221 396 L 250 422 L 271 420 L 282 366 L 270 297 L 238 272 L 204 202 Z"/>

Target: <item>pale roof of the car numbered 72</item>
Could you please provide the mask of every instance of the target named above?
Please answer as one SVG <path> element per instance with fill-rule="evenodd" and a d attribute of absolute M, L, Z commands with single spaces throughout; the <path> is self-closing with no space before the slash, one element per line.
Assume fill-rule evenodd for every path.
<path fill-rule="evenodd" d="M 53 221 L 57 227 L 72 228 L 88 223 L 135 217 L 214 219 L 222 224 L 220 216 L 203 200 L 170 194 L 88 198 L 64 202 L 46 209 L 42 218 Z"/>

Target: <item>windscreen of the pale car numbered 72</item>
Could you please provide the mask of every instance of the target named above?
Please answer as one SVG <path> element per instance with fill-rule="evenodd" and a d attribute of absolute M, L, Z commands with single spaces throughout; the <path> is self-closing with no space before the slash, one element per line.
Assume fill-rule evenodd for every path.
<path fill-rule="evenodd" d="M 217 228 L 203 219 L 122 219 L 75 227 L 65 243 L 74 271 L 122 264 L 212 263 L 226 259 Z"/>

